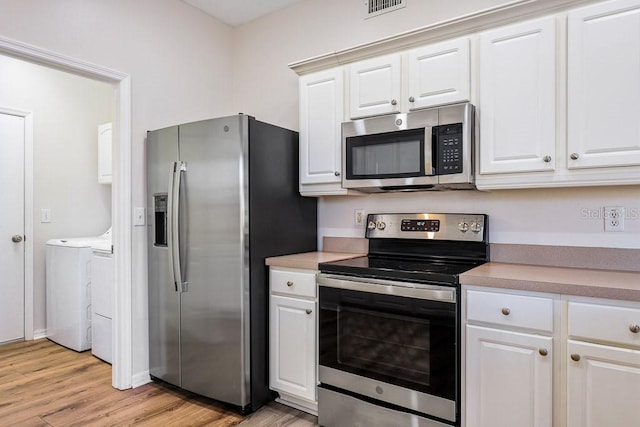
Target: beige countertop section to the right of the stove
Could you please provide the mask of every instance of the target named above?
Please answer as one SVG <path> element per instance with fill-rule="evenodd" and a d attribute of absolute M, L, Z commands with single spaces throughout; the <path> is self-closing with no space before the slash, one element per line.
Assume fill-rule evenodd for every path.
<path fill-rule="evenodd" d="M 489 262 L 460 275 L 463 285 L 640 301 L 640 273 Z"/>

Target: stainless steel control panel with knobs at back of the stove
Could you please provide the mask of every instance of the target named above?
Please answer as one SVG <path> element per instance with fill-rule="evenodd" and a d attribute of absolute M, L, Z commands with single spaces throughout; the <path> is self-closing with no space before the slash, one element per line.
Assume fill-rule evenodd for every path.
<path fill-rule="evenodd" d="M 369 214 L 367 238 L 487 241 L 484 214 Z"/>

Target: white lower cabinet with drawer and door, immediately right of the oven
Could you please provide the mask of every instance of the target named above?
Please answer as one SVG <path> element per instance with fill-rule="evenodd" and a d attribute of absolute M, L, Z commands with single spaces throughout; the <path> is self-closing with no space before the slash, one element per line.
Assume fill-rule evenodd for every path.
<path fill-rule="evenodd" d="M 471 290 L 466 297 L 465 425 L 551 426 L 552 299 Z"/>

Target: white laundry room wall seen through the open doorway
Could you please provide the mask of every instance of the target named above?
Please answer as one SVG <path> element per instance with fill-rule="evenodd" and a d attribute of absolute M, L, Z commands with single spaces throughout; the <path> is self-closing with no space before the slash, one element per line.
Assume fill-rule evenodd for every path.
<path fill-rule="evenodd" d="M 111 224 L 111 186 L 98 184 L 98 125 L 113 119 L 110 85 L 0 56 L 0 105 L 33 113 L 34 329 L 46 328 L 45 243 Z M 40 210 L 51 209 L 51 222 Z"/>

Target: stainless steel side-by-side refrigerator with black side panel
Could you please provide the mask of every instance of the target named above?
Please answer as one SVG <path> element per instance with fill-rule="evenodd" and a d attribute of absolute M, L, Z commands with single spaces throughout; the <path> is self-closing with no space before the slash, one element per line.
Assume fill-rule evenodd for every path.
<path fill-rule="evenodd" d="M 253 411 L 273 398 L 264 259 L 316 249 L 298 134 L 239 114 L 146 143 L 149 372 Z"/>

